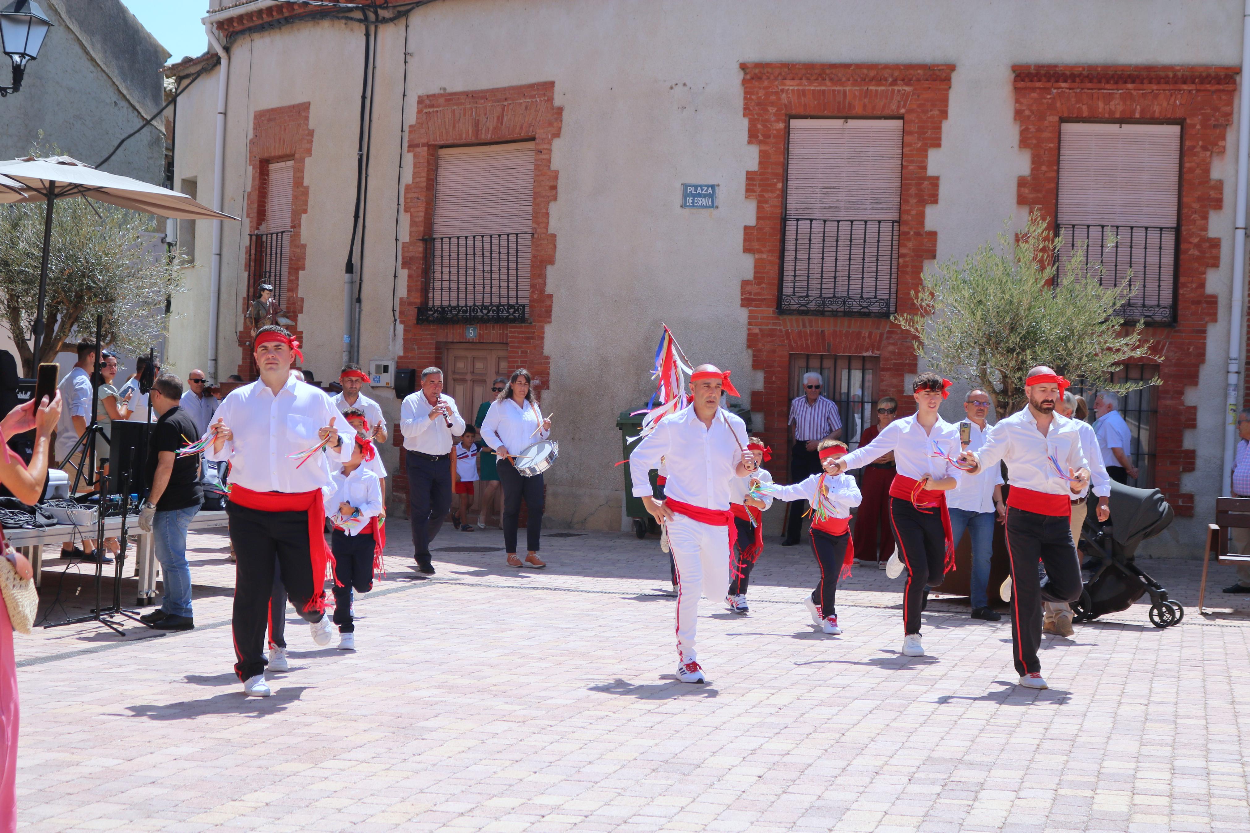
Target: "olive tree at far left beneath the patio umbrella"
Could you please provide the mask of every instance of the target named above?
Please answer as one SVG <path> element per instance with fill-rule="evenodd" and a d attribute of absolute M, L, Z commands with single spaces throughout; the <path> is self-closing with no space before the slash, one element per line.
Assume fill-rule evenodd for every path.
<path fill-rule="evenodd" d="M 76 326 L 79 337 L 94 337 L 96 315 L 104 316 L 105 343 L 148 352 L 166 332 L 166 300 L 182 290 L 181 259 L 145 249 L 150 215 L 75 197 L 58 200 L 52 212 L 44 342 L 34 355 L 44 209 L 0 206 L 0 327 L 12 336 L 22 375 L 55 361 Z"/>

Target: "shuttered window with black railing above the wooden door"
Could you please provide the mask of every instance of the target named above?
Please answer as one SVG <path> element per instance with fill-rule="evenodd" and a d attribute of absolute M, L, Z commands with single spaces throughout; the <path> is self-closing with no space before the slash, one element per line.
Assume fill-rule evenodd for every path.
<path fill-rule="evenodd" d="M 439 150 L 421 321 L 525 321 L 535 144 Z"/>

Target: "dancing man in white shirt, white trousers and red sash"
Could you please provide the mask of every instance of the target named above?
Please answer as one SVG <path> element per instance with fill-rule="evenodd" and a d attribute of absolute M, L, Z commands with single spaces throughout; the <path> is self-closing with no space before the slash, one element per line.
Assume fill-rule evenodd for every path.
<path fill-rule="evenodd" d="M 692 401 L 656 423 L 629 457 L 634 495 L 656 522 L 668 525 L 678 571 L 678 679 L 702 683 L 695 653 L 699 596 L 719 599 L 729 589 L 729 553 L 738 537 L 729 508 L 730 485 L 756 470 L 746 448 L 746 425 L 720 407 L 738 396 L 729 372 L 700 365 L 690 375 Z M 650 471 L 664 461 L 664 500 L 651 495 Z"/>

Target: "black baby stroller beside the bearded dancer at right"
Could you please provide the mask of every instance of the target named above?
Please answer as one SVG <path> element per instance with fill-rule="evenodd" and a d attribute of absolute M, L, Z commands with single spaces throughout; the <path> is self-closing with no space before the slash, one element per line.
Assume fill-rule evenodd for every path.
<path fill-rule="evenodd" d="M 1094 496 L 1090 496 L 1094 500 Z M 1185 608 L 1168 598 L 1168 591 L 1148 576 L 1134 556 L 1142 541 L 1154 538 L 1172 521 L 1172 510 L 1158 488 L 1132 488 L 1111 483 L 1111 520 L 1100 525 L 1090 507 L 1081 537 L 1099 562 L 1090 571 L 1079 601 L 1072 602 L 1072 619 L 1089 622 L 1104 613 L 1128 609 L 1150 593 L 1150 623 L 1166 628 L 1185 618 Z"/>

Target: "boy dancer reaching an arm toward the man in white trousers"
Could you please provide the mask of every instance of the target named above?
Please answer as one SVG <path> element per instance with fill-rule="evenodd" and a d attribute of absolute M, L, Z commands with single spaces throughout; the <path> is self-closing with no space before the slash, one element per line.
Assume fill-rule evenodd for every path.
<path fill-rule="evenodd" d="M 772 493 L 782 501 L 808 501 L 811 505 L 811 553 L 820 566 L 820 582 L 804 599 L 812 623 L 825 633 L 838 636 L 838 609 L 834 594 L 838 579 L 851 574 L 855 546 L 851 543 L 851 510 L 860 505 L 860 491 L 850 475 L 831 473 L 846 453 L 841 440 L 821 440 L 816 446 L 820 467 L 825 471 L 790 486 L 779 486 Z"/>

